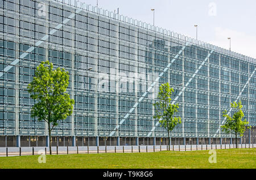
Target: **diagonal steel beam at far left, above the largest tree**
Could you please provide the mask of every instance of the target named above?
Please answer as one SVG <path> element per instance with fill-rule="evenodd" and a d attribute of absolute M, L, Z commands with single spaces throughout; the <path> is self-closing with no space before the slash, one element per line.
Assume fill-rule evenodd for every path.
<path fill-rule="evenodd" d="M 79 12 L 81 12 L 82 9 L 78 8 L 76 9 L 75 13 L 72 13 L 71 15 L 68 16 L 68 18 L 64 19 L 62 23 L 58 24 L 55 28 L 53 28 L 50 32 L 49 35 L 53 35 L 53 33 L 55 33 L 57 30 L 59 30 L 61 27 L 63 27 L 64 24 L 67 24 L 69 22 L 69 20 L 73 19 L 75 17 L 76 14 L 79 14 Z M 49 38 L 49 35 L 46 35 L 44 37 L 42 37 L 38 42 L 36 42 L 35 46 L 31 46 L 30 48 L 28 48 L 26 50 L 26 52 L 22 53 L 19 58 L 15 59 L 13 62 L 10 63 L 10 65 L 6 66 L 3 69 L 3 72 L 0 72 L 0 78 L 3 76 L 3 74 L 5 74 L 7 71 L 9 71 L 12 67 L 14 67 L 19 61 L 20 59 L 23 59 L 24 57 L 26 57 L 29 53 L 31 53 L 37 46 L 39 46 L 40 44 L 42 44 L 44 41 L 46 41 Z"/>

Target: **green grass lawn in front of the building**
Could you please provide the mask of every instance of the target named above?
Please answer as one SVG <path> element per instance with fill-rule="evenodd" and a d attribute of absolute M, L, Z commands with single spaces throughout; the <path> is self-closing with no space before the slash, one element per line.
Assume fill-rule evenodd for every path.
<path fill-rule="evenodd" d="M 46 163 L 36 156 L 0 157 L 0 168 L 256 168 L 256 149 L 219 149 L 217 163 L 210 164 L 209 151 L 102 153 L 82 155 L 47 155 Z"/>

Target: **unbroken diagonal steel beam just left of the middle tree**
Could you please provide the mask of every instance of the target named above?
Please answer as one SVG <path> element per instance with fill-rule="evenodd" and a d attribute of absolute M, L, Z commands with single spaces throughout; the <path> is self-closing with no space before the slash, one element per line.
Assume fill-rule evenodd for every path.
<path fill-rule="evenodd" d="M 168 70 L 168 68 L 170 68 L 171 64 L 174 63 L 174 61 L 177 59 L 177 57 L 179 57 L 179 55 L 183 52 L 183 50 L 185 49 L 186 46 L 188 46 L 189 43 L 187 42 L 179 51 L 179 53 L 177 53 L 175 55 L 175 57 L 172 59 L 172 61 L 170 63 L 168 63 L 168 65 L 164 68 L 164 70 L 160 73 L 160 75 L 158 76 L 158 78 L 155 79 L 155 81 L 150 85 L 150 87 L 147 89 L 146 92 L 143 93 L 143 95 L 141 96 L 141 98 L 139 98 L 138 102 L 136 102 L 133 106 L 133 108 L 131 108 L 129 110 L 129 112 L 125 115 L 125 117 L 122 118 L 122 120 L 118 123 L 117 126 L 115 126 L 114 130 L 110 133 L 109 136 L 113 136 L 115 131 L 122 125 L 123 122 L 125 122 L 125 120 L 127 119 L 127 117 L 129 117 L 129 115 L 133 112 L 133 110 L 135 108 L 137 108 L 139 102 L 141 102 L 143 100 L 143 98 L 147 95 L 148 92 L 150 92 L 150 90 L 155 86 L 155 84 L 158 82 L 158 80 L 163 76 L 164 72 L 166 72 Z"/>

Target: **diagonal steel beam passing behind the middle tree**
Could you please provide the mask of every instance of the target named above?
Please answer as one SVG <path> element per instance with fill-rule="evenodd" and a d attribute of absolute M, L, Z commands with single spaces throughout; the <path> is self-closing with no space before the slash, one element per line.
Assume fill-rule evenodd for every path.
<path fill-rule="evenodd" d="M 207 59 L 210 57 L 210 55 L 211 55 L 212 53 L 213 53 L 213 50 L 210 51 L 210 53 L 207 55 L 207 57 L 204 59 L 204 61 L 201 63 L 201 65 L 197 68 L 197 70 L 196 70 L 195 73 L 192 75 L 192 77 L 188 80 L 188 82 L 184 85 L 184 87 L 181 89 L 179 95 L 177 95 L 177 96 L 175 97 L 174 101 L 172 101 L 171 104 L 175 104 L 175 102 L 177 101 L 177 99 L 178 99 L 178 98 L 180 97 L 180 95 L 185 91 L 185 89 L 186 89 L 186 88 L 188 87 L 188 85 L 191 83 L 192 79 L 195 78 L 197 72 L 199 72 L 199 70 L 201 69 L 201 67 L 204 66 L 204 63 L 207 61 Z M 160 120 L 161 120 L 161 119 L 160 119 Z M 160 120 L 159 120 L 159 121 L 160 121 Z M 159 125 L 159 121 L 156 122 L 155 126 L 152 127 L 152 129 L 151 129 L 150 132 L 148 132 L 148 134 L 147 134 L 148 137 L 151 136 L 152 132 L 155 131 L 156 126 Z"/>

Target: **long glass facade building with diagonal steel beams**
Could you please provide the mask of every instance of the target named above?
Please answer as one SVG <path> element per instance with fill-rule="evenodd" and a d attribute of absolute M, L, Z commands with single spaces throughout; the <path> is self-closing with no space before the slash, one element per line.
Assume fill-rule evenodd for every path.
<path fill-rule="evenodd" d="M 46 60 L 69 71 L 75 100 L 52 145 L 167 144 L 152 105 L 166 82 L 182 121 L 172 144 L 232 142 L 222 112 L 239 100 L 253 126 L 241 142 L 255 143 L 255 59 L 78 1 L 0 0 L 0 147 L 46 144 L 27 91 Z"/>

